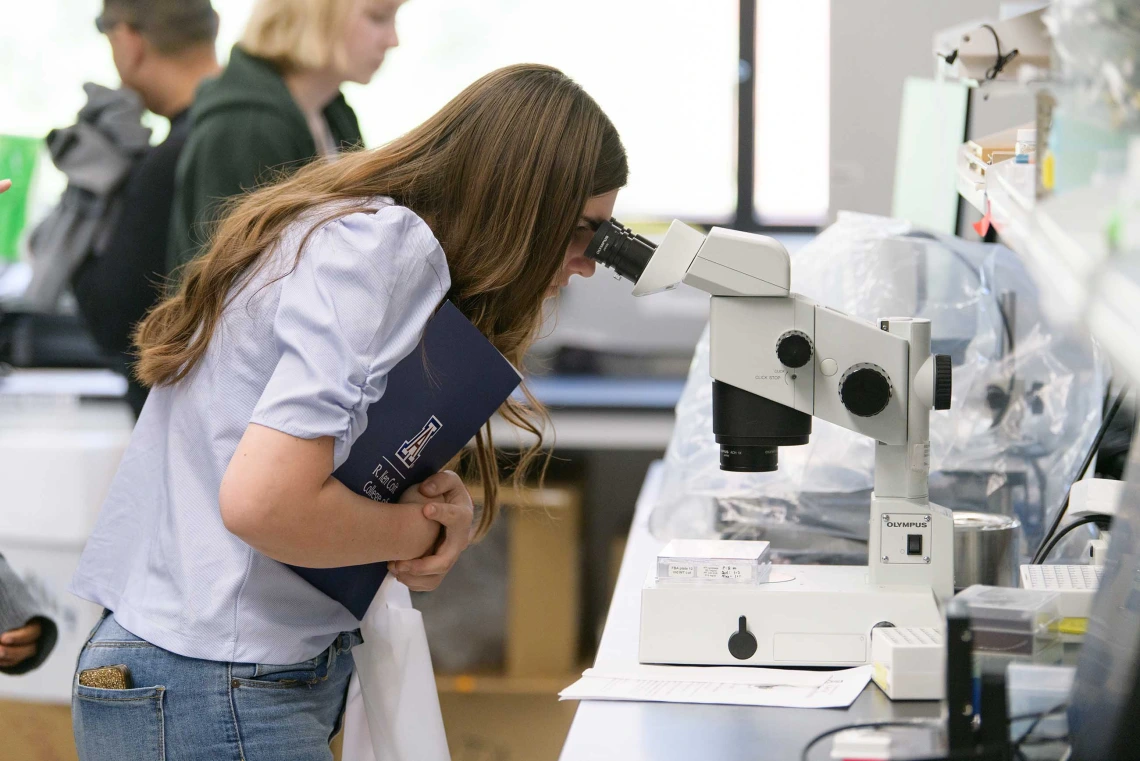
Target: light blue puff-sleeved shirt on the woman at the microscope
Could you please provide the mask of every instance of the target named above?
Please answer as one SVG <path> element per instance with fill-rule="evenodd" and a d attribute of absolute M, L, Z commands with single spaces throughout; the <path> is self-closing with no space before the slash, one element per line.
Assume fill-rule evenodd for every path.
<path fill-rule="evenodd" d="M 332 436 L 340 466 L 450 287 L 423 220 L 388 198 L 373 206 L 318 228 L 300 260 L 312 221 L 286 230 L 194 371 L 147 399 L 72 580 L 136 636 L 188 657 L 285 664 L 358 628 L 227 531 L 218 490 L 250 423 Z"/>

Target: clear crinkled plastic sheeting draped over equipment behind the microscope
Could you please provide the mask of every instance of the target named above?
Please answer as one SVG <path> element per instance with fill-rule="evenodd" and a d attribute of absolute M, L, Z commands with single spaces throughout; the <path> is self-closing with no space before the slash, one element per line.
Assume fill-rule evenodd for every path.
<path fill-rule="evenodd" d="M 841 213 L 792 256 L 792 291 L 868 320 L 931 321 L 953 406 L 930 418 L 931 501 L 1015 515 L 1032 549 L 1100 424 L 1106 367 L 1085 335 L 1042 320 L 1012 252 Z M 1012 343 L 1012 347 L 1010 344 Z M 784 562 L 863 563 L 874 442 L 816 418 L 774 473 L 725 473 L 712 436 L 709 337 L 697 346 L 666 453 L 653 533 L 766 539 Z"/>

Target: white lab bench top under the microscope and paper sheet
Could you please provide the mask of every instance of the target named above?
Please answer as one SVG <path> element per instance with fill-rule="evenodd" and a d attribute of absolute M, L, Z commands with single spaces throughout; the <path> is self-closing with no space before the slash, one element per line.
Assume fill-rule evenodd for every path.
<path fill-rule="evenodd" d="M 617 670 L 637 663 L 642 582 L 663 543 L 649 531 L 662 467 L 658 463 L 650 469 L 637 500 L 596 668 Z M 832 727 L 935 718 L 939 712 L 937 701 L 891 702 L 873 682 L 846 710 L 585 701 L 561 761 L 796 761 L 808 740 Z M 821 746 L 812 759 L 828 758 L 828 744 Z"/>

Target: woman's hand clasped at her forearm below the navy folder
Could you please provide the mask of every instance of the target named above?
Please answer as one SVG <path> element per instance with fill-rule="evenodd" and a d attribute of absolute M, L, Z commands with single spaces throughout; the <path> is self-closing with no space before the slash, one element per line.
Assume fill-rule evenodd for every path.
<path fill-rule="evenodd" d="M 443 526 L 435 549 L 416 560 L 389 563 L 397 581 L 415 592 L 430 592 L 439 587 L 463 550 L 471 543 L 475 508 L 463 480 L 450 470 L 437 473 L 400 497 L 405 505 L 423 505 L 424 517 Z"/>

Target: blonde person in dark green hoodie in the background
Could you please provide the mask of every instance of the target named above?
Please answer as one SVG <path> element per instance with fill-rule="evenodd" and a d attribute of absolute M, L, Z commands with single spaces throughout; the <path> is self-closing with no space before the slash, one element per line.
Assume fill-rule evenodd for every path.
<path fill-rule="evenodd" d="M 394 48 L 402 0 L 259 0 L 220 77 L 202 85 L 178 165 L 171 269 L 197 255 L 221 202 L 361 145 L 344 82 Z"/>

